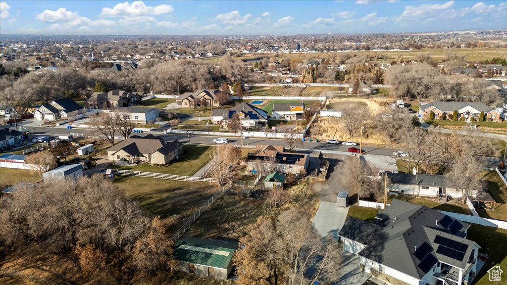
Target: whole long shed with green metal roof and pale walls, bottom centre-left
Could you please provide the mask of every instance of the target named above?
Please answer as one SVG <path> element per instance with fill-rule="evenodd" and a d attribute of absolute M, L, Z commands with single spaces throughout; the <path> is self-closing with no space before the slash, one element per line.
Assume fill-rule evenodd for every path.
<path fill-rule="evenodd" d="M 180 271 L 225 280 L 237 248 L 236 242 L 187 237 L 176 243 L 173 257 Z"/>

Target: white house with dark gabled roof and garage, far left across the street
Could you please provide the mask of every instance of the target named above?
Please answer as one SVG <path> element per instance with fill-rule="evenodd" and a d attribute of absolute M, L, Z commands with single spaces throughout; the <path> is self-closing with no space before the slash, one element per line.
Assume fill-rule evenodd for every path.
<path fill-rule="evenodd" d="M 63 98 L 40 106 L 33 112 L 33 116 L 35 120 L 58 121 L 79 115 L 82 109 L 73 99 Z"/>

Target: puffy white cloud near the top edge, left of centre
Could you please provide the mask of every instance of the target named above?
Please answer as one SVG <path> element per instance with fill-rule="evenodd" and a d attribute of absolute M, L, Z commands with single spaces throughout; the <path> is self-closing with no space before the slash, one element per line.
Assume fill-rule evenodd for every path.
<path fill-rule="evenodd" d="M 146 6 L 142 1 L 119 3 L 113 8 L 102 8 L 104 17 L 161 15 L 174 11 L 171 5 Z"/>

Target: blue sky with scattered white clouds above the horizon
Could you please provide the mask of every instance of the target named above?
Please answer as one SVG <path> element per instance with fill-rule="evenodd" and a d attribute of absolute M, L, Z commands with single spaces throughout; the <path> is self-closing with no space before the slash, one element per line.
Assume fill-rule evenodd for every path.
<path fill-rule="evenodd" d="M 505 1 L 9 1 L 0 34 L 309 34 L 507 28 Z"/>

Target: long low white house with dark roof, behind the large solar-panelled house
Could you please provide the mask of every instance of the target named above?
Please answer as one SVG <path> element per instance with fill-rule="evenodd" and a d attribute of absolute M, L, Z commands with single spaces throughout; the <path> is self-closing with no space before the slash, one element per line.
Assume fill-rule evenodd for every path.
<path fill-rule="evenodd" d="M 463 197 L 460 189 L 448 185 L 444 175 L 387 173 L 387 177 L 390 181 L 389 191 L 400 194 L 439 198 L 448 195 L 455 199 Z M 477 194 L 475 190 L 470 196 L 476 197 Z"/>

